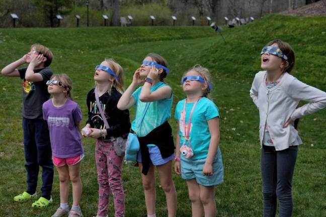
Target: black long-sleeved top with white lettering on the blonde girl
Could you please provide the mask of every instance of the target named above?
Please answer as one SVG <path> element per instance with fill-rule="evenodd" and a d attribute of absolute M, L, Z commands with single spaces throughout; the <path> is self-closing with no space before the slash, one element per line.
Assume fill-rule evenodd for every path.
<path fill-rule="evenodd" d="M 98 108 L 98 104 L 95 98 L 95 89 L 91 89 L 87 95 L 87 107 L 89 119 L 86 124 L 90 124 L 92 128 L 106 129 L 101 113 Z M 130 118 L 128 110 L 119 110 L 117 108 L 118 101 L 121 97 L 114 87 L 112 87 L 111 95 L 108 92 L 99 97 L 100 103 L 104 111 L 104 115 L 110 125 L 107 130 L 106 140 L 110 137 L 120 137 L 130 131 Z M 102 138 L 99 138 L 102 139 Z"/>

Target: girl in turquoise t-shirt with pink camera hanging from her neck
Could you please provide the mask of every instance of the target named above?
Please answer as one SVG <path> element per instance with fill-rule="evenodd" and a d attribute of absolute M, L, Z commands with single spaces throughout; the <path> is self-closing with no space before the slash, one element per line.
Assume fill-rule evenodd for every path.
<path fill-rule="evenodd" d="M 181 83 L 187 98 L 178 102 L 175 111 L 175 172 L 187 181 L 192 216 L 216 216 L 214 186 L 223 182 L 223 163 L 218 108 L 207 98 L 212 88 L 208 69 L 195 65 Z"/>

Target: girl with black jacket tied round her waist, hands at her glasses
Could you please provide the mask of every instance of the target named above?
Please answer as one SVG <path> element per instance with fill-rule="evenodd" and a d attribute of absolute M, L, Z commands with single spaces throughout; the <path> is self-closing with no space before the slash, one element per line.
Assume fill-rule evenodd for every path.
<path fill-rule="evenodd" d="M 132 131 L 136 131 L 137 123 L 148 106 L 144 119 L 136 131 L 140 143 L 137 162 L 142 172 L 148 217 L 156 216 L 155 166 L 160 185 L 167 197 L 168 216 L 176 216 L 177 212 L 177 192 L 172 179 L 175 147 L 172 129 L 168 123 L 171 117 L 173 92 L 172 88 L 163 82 L 168 73 L 169 69 L 164 58 L 155 53 L 148 54 L 140 68 L 135 71 L 131 84 L 117 104 L 120 110 L 136 105 L 135 120 L 131 124 Z M 143 86 L 136 89 L 139 84 Z"/>

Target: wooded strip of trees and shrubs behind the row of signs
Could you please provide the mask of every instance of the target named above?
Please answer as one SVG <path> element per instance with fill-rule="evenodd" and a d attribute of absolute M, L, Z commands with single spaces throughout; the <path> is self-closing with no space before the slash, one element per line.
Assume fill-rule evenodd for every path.
<path fill-rule="evenodd" d="M 90 26 L 104 25 L 103 14 L 109 16 L 110 26 L 119 26 L 120 17 L 127 15 L 134 18 L 133 25 L 151 25 L 149 15 L 153 15 L 155 25 L 167 26 L 172 25 L 172 15 L 178 19 L 176 25 L 192 25 L 191 16 L 197 18 L 195 25 L 205 25 L 206 16 L 217 23 L 224 23 L 225 16 L 257 19 L 317 0 L 0 0 L 0 27 L 13 26 L 10 13 L 19 16 L 17 27 L 56 27 L 57 14 L 64 18 L 63 27 L 76 26 L 75 14 L 82 17 L 80 26 L 86 26 L 86 2 Z"/>

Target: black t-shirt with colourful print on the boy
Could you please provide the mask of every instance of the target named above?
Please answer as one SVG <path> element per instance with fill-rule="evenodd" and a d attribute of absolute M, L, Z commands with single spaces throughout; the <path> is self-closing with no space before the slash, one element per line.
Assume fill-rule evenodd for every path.
<path fill-rule="evenodd" d="M 27 119 L 43 119 L 42 105 L 50 98 L 47 91 L 46 82 L 50 80 L 53 72 L 52 69 L 45 67 L 35 69 L 34 73 L 40 73 L 43 77 L 42 81 L 29 82 L 25 79 L 27 67 L 18 69 L 23 82 L 23 117 Z"/>

